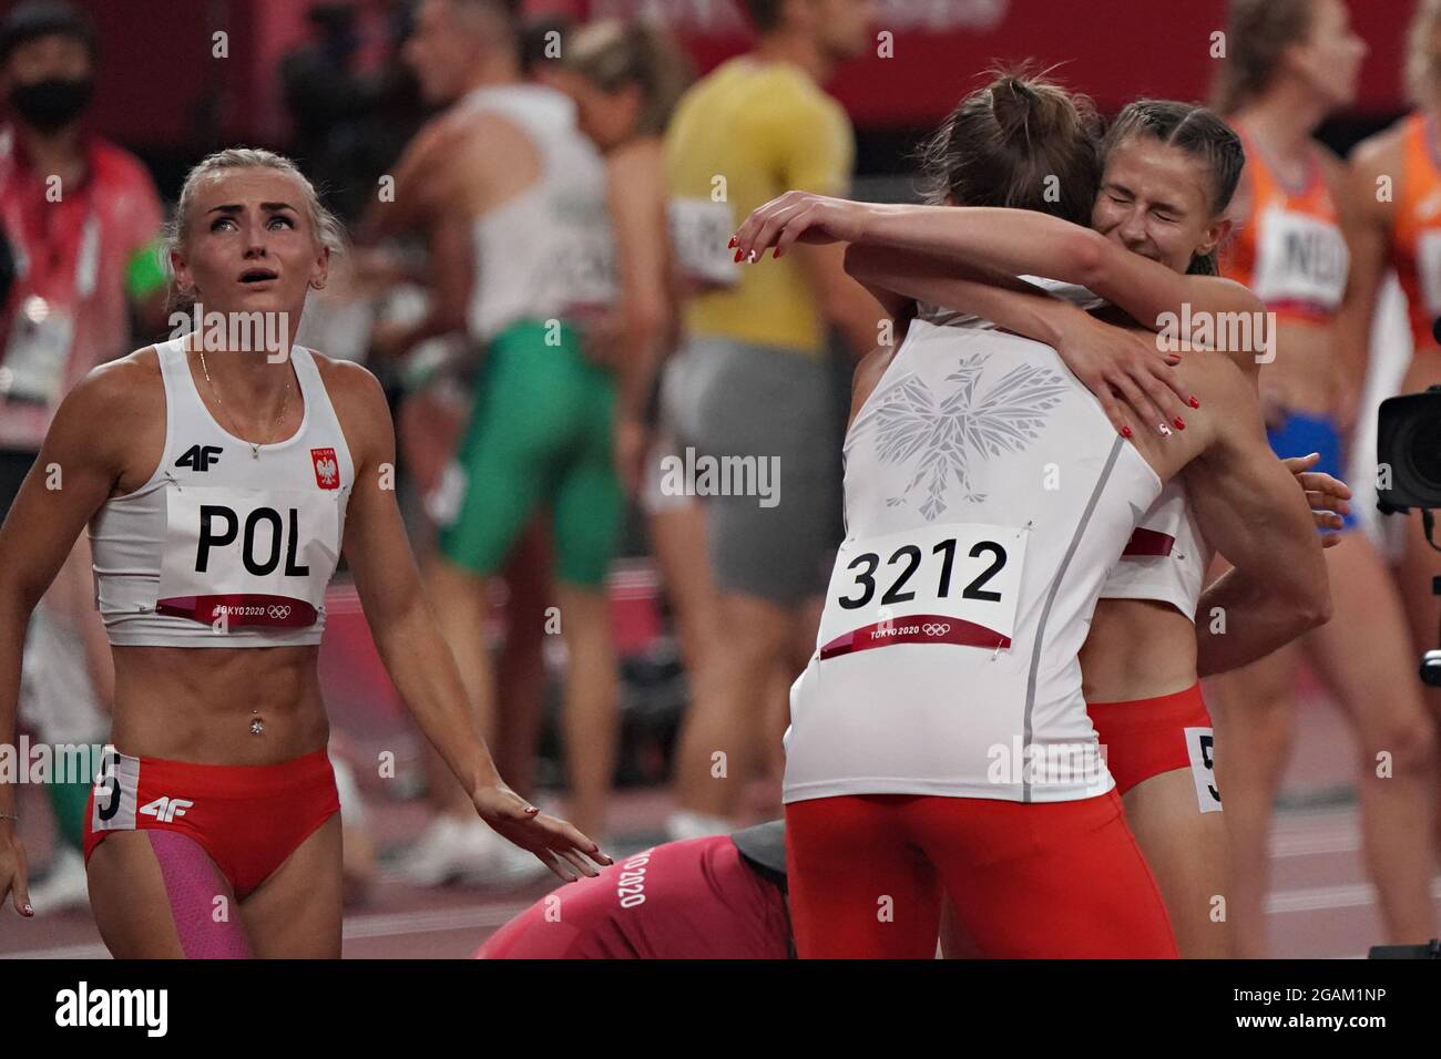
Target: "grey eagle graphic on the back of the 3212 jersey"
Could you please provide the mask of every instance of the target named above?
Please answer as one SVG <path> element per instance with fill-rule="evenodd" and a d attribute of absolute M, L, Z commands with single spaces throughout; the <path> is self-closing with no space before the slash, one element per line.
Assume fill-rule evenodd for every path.
<path fill-rule="evenodd" d="M 971 460 L 1019 452 L 1039 437 L 1046 412 L 1061 403 L 1071 386 L 1046 367 L 1020 365 L 1010 369 L 984 393 L 977 395 L 981 372 L 990 357 L 965 357 L 945 382 L 960 383 L 941 401 L 916 376 L 908 376 L 885 392 L 860 429 L 875 426 L 878 454 L 891 464 L 915 461 L 915 475 L 892 507 L 906 503 L 924 483 L 921 516 L 934 522 L 947 509 L 951 477 L 965 490 L 968 503 L 981 503 L 984 493 L 971 486 Z"/>

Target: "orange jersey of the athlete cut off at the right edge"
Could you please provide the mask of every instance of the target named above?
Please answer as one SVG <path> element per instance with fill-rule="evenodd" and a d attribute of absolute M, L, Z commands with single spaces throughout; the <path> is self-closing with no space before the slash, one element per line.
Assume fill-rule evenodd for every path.
<path fill-rule="evenodd" d="M 1434 144 L 1428 117 L 1406 118 L 1391 261 L 1406 292 L 1417 349 L 1435 349 L 1431 324 L 1441 317 L 1441 158 Z"/>

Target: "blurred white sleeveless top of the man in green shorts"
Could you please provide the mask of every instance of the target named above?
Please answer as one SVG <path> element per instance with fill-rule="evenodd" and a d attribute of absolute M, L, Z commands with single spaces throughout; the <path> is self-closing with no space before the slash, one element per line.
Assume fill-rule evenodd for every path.
<path fill-rule="evenodd" d="M 460 104 L 519 125 L 540 153 L 535 184 L 474 220 L 470 331 L 488 340 L 519 320 L 562 318 L 615 300 L 605 163 L 569 98 L 539 85 L 480 88 Z"/>

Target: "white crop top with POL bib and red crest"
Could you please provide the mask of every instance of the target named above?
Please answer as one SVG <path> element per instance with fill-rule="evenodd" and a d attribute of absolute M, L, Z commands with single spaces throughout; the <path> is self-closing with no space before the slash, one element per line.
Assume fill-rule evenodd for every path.
<path fill-rule="evenodd" d="M 95 596 L 117 647 L 318 644 L 354 465 L 308 349 L 294 435 L 252 451 L 196 390 L 184 339 L 159 343 L 166 448 L 91 520 Z"/>

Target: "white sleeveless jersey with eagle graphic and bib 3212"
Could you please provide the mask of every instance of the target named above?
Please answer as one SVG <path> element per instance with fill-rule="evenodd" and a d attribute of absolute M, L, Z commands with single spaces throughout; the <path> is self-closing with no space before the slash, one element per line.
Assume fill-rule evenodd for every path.
<path fill-rule="evenodd" d="M 1161 483 L 1049 346 L 916 320 L 846 438 L 787 803 L 1111 790 L 1078 653 Z"/>

